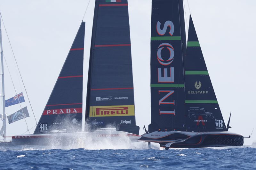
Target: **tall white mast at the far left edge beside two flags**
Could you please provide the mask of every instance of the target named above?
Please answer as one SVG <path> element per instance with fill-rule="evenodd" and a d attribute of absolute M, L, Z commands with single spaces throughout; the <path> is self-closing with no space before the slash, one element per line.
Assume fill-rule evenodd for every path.
<path fill-rule="evenodd" d="M 0 13 L 1 16 L 1 13 Z M 2 27 L 1 27 L 1 17 L 0 17 L 0 46 L 1 46 L 1 75 L 2 75 L 2 86 L 1 86 L 1 94 L 2 103 L 3 103 L 3 127 L 4 127 L 4 142 L 6 142 L 6 115 L 5 115 L 5 100 L 4 100 L 4 62 L 3 62 L 3 44 L 2 44 Z"/>

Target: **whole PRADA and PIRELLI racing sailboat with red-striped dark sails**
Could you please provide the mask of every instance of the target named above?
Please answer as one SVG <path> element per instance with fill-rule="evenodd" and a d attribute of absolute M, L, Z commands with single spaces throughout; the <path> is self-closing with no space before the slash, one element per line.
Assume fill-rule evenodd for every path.
<path fill-rule="evenodd" d="M 127 0 L 96 0 L 82 130 L 84 30 L 82 21 L 33 135 L 14 145 L 69 145 L 81 138 L 137 141 Z M 85 139 L 86 140 L 86 139 Z"/>

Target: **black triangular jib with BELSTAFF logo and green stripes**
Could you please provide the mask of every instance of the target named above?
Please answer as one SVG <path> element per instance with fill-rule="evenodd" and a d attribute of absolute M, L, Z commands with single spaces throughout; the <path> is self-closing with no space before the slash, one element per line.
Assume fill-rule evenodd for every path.
<path fill-rule="evenodd" d="M 185 57 L 188 131 L 227 131 L 190 15 Z"/>

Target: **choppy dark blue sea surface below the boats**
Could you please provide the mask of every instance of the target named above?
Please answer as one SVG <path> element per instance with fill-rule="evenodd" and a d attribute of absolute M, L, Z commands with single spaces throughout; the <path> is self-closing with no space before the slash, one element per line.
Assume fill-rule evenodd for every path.
<path fill-rule="evenodd" d="M 0 169 L 256 169 L 256 148 L 0 151 Z"/>

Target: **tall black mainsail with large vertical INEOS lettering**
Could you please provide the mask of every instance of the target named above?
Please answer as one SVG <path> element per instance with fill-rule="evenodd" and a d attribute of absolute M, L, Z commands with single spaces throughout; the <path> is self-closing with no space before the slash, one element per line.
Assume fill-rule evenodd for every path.
<path fill-rule="evenodd" d="M 151 124 L 149 132 L 185 129 L 182 0 L 152 0 Z"/>

